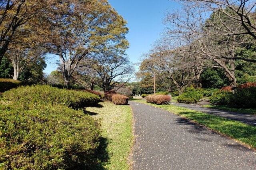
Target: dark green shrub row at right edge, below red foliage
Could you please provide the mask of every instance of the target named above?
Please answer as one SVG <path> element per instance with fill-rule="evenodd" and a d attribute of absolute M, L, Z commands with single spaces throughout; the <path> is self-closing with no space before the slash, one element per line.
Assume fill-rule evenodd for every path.
<path fill-rule="evenodd" d="M 218 91 L 210 97 L 210 103 L 238 108 L 256 108 L 256 87 L 238 88 L 234 94 L 230 91 Z"/>

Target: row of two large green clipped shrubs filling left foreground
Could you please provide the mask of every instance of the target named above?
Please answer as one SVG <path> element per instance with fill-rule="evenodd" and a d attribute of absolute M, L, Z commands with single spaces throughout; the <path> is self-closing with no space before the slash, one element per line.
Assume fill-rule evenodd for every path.
<path fill-rule="evenodd" d="M 97 95 L 34 85 L 6 91 L 3 99 L 0 169 L 85 169 L 96 162 L 100 124 L 74 109 Z"/>

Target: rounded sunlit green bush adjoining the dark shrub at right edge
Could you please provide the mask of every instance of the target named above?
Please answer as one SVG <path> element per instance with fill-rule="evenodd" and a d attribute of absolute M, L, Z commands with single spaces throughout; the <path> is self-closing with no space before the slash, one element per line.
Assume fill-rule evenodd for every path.
<path fill-rule="evenodd" d="M 210 103 L 212 105 L 229 105 L 231 95 L 232 93 L 229 91 L 217 91 L 210 97 Z"/>

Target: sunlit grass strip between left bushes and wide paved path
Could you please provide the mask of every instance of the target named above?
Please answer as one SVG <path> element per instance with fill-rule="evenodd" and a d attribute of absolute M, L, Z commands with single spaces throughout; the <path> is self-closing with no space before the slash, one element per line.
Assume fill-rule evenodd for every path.
<path fill-rule="evenodd" d="M 102 119 L 102 136 L 106 148 L 102 149 L 101 167 L 113 170 L 128 170 L 128 156 L 133 144 L 132 110 L 130 106 L 100 102 L 102 107 L 87 107 L 86 111 L 95 119 Z M 92 168 L 98 169 L 98 168 Z"/>

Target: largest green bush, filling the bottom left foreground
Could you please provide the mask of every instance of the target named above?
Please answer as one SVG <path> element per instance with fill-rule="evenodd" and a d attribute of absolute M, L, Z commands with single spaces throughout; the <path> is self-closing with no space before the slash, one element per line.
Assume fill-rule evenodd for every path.
<path fill-rule="evenodd" d="M 13 103 L 0 104 L 0 113 L 0 169 L 86 169 L 96 162 L 100 123 L 82 111 Z"/>

